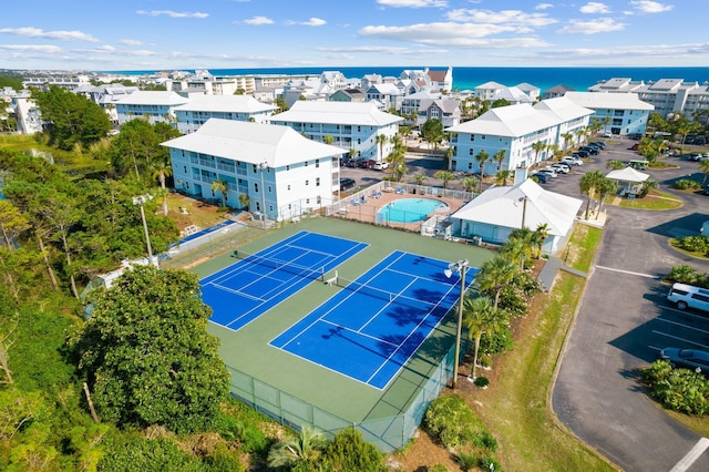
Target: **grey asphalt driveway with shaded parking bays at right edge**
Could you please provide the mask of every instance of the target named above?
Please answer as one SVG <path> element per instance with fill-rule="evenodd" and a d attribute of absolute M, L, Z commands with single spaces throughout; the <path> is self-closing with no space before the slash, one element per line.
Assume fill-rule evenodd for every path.
<path fill-rule="evenodd" d="M 633 158 L 630 143 L 608 146 L 593 163 L 576 167 L 576 175 L 559 176 L 546 187 L 579 197 L 580 175 L 596 168 L 606 174 L 610 158 Z M 697 163 L 680 165 L 647 173 L 671 192 L 666 184 L 698 172 Z M 709 263 L 668 245 L 669 237 L 698 234 L 700 222 L 709 219 L 709 196 L 676 194 L 685 205 L 675 211 L 606 208 L 606 228 L 553 390 L 559 420 L 628 471 L 709 470 L 709 441 L 669 419 L 637 382 L 637 369 L 655 360 L 658 349 L 697 343 L 701 331 L 709 332 L 692 330 L 702 322 L 709 328 L 709 320 L 667 305 L 667 286 L 659 280 L 680 264 L 709 271 Z M 680 326 L 689 334 L 675 336 Z"/>

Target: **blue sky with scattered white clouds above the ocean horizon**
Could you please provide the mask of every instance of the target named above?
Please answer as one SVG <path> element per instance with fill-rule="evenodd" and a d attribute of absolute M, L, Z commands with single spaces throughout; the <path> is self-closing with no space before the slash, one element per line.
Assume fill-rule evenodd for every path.
<path fill-rule="evenodd" d="M 0 69 L 707 66 L 706 0 L 8 0 Z"/>

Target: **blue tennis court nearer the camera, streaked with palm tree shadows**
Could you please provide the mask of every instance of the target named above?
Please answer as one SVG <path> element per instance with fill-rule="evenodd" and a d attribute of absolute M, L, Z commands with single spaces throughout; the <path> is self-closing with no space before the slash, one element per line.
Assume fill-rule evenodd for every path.
<path fill-rule="evenodd" d="M 460 276 L 446 278 L 448 267 L 394 252 L 345 288 L 333 287 L 330 299 L 270 345 L 384 389 L 460 299 Z M 466 287 L 477 271 L 467 270 Z"/>

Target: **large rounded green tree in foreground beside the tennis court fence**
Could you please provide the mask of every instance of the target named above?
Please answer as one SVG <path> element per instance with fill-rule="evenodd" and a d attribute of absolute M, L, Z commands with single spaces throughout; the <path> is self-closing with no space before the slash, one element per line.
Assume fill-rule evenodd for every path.
<path fill-rule="evenodd" d="M 95 299 L 73 343 L 99 415 L 173 431 L 210 425 L 229 391 L 210 309 L 182 270 L 137 266 Z"/>

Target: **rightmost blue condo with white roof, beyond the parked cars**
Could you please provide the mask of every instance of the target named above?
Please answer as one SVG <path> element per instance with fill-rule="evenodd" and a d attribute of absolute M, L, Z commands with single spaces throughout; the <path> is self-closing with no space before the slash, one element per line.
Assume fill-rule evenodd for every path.
<path fill-rule="evenodd" d="M 639 100 L 637 93 L 567 92 L 566 99 L 594 111 L 592 116 L 612 134 L 645 134 L 647 119 L 654 107 Z"/>

